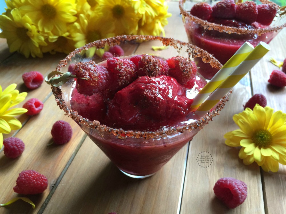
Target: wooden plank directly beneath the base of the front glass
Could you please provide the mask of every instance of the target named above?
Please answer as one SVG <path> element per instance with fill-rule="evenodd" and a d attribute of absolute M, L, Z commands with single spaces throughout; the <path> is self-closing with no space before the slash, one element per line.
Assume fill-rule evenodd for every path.
<path fill-rule="evenodd" d="M 43 213 L 176 213 L 186 149 L 155 175 L 132 179 L 86 138 Z"/>

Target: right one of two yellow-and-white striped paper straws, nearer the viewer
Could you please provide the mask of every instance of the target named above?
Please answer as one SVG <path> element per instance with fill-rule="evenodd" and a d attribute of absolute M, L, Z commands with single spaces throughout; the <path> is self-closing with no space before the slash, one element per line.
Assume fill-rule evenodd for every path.
<path fill-rule="evenodd" d="M 250 69 L 270 50 L 269 45 L 260 42 L 251 53 L 235 68 L 235 70 L 219 85 L 217 89 L 200 105 L 196 114 L 204 115 L 212 109 L 235 84 L 247 74 Z"/>

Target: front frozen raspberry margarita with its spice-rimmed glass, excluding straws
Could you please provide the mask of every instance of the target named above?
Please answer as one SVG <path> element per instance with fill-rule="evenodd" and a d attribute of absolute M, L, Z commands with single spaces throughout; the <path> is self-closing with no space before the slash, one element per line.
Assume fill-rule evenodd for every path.
<path fill-rule="evenodd" d="M 194 96 L 206 84 L 189 56 L 221 64 L 203 50 L 174 39 L 122 36 L 90 43 L 61 61 L 57 71 L 85 48 L 113 46 L 136 39 L 161 41 L 173 51 L 157 55 L 138 53 L 86 60 L 73 65 L 75 78 L 53 87 L 58 105 L 73 118 L 96 145 L 125 174 L 144 178 L 167 163 L 219 113 L 227 96 L 198 117 L 190 111 Z M 142 45 L 147 46 L 148 43 Z M 186 52 L 182 51 L 185 46 Z M 182 53 L 184 52 L 184 53 Z M 167 56 L 168 54 L 175 56 Z"/>

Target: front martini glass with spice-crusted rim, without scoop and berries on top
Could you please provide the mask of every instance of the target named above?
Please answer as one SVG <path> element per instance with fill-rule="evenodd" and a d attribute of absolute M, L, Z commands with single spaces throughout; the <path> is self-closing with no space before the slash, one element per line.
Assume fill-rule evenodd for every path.
<path fill-rule="evenodd" d="M 132 35 L 98 40 L 76 49 L 60 61 L 55 72 L 65 73 L 70 63 L 83 60 L 86 50 L 94 47 L 102 49 L 106 45 L 120 45 L 125 50 L 126 56 L 148 53 L 162 58 L 170 58 L 180 55 L 190 59 L 201 58 L 205 63 L 216 68 L 222 66 L 212 55 L 189 43 L 164 37 Z M 160 51 L 154 51 L 152 49 L 154 46 L 159 47 Z M 93 60 L 97 63 L 101 62 L 100 57 L 94 57 Z M 196 78 L 202 77 L 197 75 Z M 219 114 L 229 96 L 229 94 L 224 96 L 208 114 L 199 117 L 190 112 L 186 121 L 182 121 L 176 126 L 164 126 L 154 131 L 136 131 L 136 127 L 134 130 L 123 130 L 122 128 L 108 127 L 97 120 L 90 121 L 79 115 L 77 111 L 72 110 L 70 100 L 75 81 L 74 78 L 70 78 L 61 86 L 52 86 L 59 108 L 82 128 L 124 174 L 134 178 L 145 178 L 156 173 Z"/>

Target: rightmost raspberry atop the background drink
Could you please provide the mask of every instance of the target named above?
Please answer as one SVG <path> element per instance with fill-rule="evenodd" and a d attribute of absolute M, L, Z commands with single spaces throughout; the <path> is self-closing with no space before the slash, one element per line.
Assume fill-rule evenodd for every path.
<path fill-rule="evenodd" d="M 273 4 L 257 5 L 257 22 L 262 25 L 270 25 L 277 13 L 277 8 Z"/>

